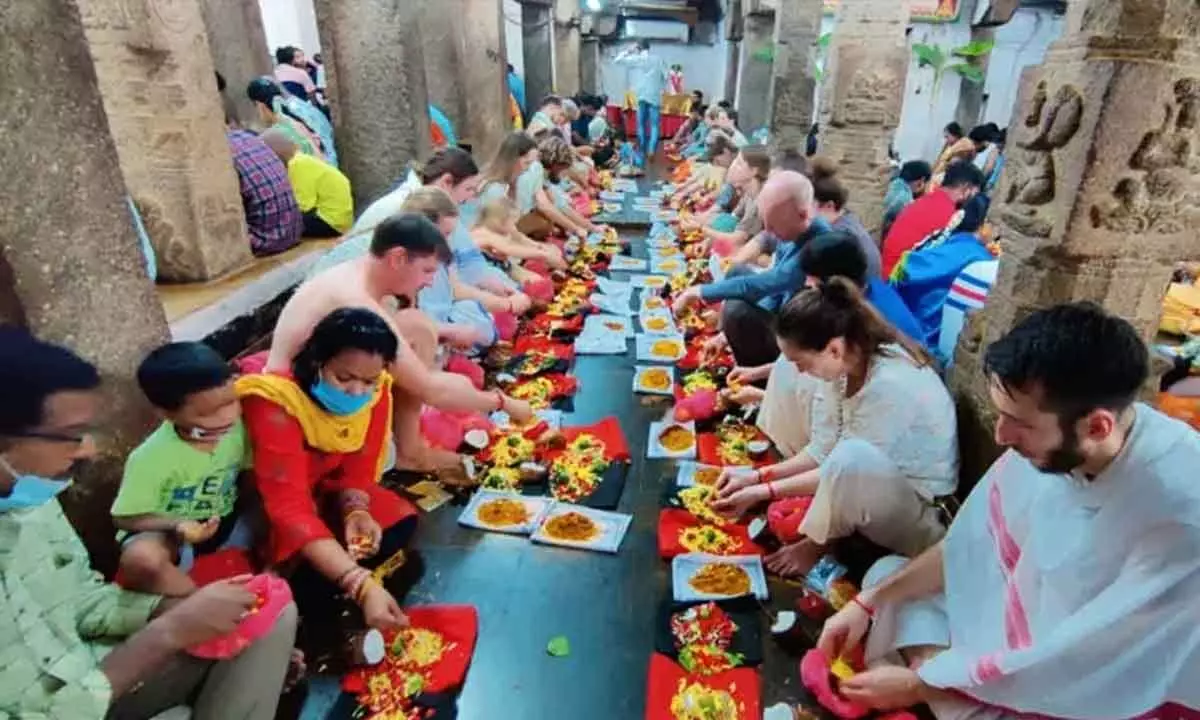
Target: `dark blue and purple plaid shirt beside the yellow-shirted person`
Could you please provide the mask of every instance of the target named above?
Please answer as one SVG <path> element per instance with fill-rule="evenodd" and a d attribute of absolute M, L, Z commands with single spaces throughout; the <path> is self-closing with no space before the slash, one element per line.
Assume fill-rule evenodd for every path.
<path fill-rule="evenodd" d="M 250 247 L 254 254 L 283 252 L 300 241 L 304 229 L 288 168 L 254 133 L 230 130 L 226 136 L 241 186 Z"/>

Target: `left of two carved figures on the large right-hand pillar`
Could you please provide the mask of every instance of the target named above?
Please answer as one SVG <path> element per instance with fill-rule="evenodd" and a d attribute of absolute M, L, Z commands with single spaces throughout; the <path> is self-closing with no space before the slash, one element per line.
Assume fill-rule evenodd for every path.
<path fill-rule="evenodd" d="M 1084 97 L 1072 85 L 1050 96 L 1045 80 L 1038 83 L 1021 122 L 1016 152 L 1009 162 L 1004 220 L 1027 235 L 1045 238 L 1051 222 L 1039 209 L 1055 199 L 1058 180 L 1055 151 L 1070 143 L 1084 116 Z"/>

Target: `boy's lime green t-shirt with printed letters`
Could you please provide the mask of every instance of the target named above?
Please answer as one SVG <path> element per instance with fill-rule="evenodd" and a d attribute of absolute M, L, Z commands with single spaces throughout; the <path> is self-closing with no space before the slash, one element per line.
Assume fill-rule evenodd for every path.
<path fill-rule="evenodd" d="M 248 467 L 246 426 L 241 420 L 211 452 L 193 448 L 170 422 L 163 422 L 125 461 L 113 515 L 224 517 L 238 500 L 238 473 Z"/>

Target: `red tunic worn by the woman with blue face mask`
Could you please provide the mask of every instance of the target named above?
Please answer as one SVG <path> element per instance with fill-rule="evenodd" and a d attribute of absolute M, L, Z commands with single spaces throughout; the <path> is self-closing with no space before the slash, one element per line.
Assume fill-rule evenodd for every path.
<path fill-rule="evenodd" d="M 371 516 L 384 529 L 416 515 L 412 503 L 379 487 L 376 475 L 379 455 L 386 452 L 391 394 L 376 403 L 362 448 L 354 452 L 310 448 L 300 422 L 263 397 L 244 397 L 241 414 L 254 449 L 251 478 L 263 498 L 270 528 L 270 562 L 281 563 L 316 540 L 336 539 L 322 509 L 343 490 L 367 493 Z"/>

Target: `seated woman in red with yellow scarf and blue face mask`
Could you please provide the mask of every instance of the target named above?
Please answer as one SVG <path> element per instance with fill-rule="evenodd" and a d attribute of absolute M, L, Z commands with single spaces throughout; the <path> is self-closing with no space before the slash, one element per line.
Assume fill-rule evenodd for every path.
<path fill-rule="evenodd" d="M 265 560 L 288 572 L 301 614 L 308 602 L 344 594 L 371 628 L 407 623 L 370 570 L 416 527 L 415 508 L 378 485 L 392 419 L 384 367 L 396 352 L 383 318 L 342 308 L 317 324 L 290 372 L 238 379 Z"/>

